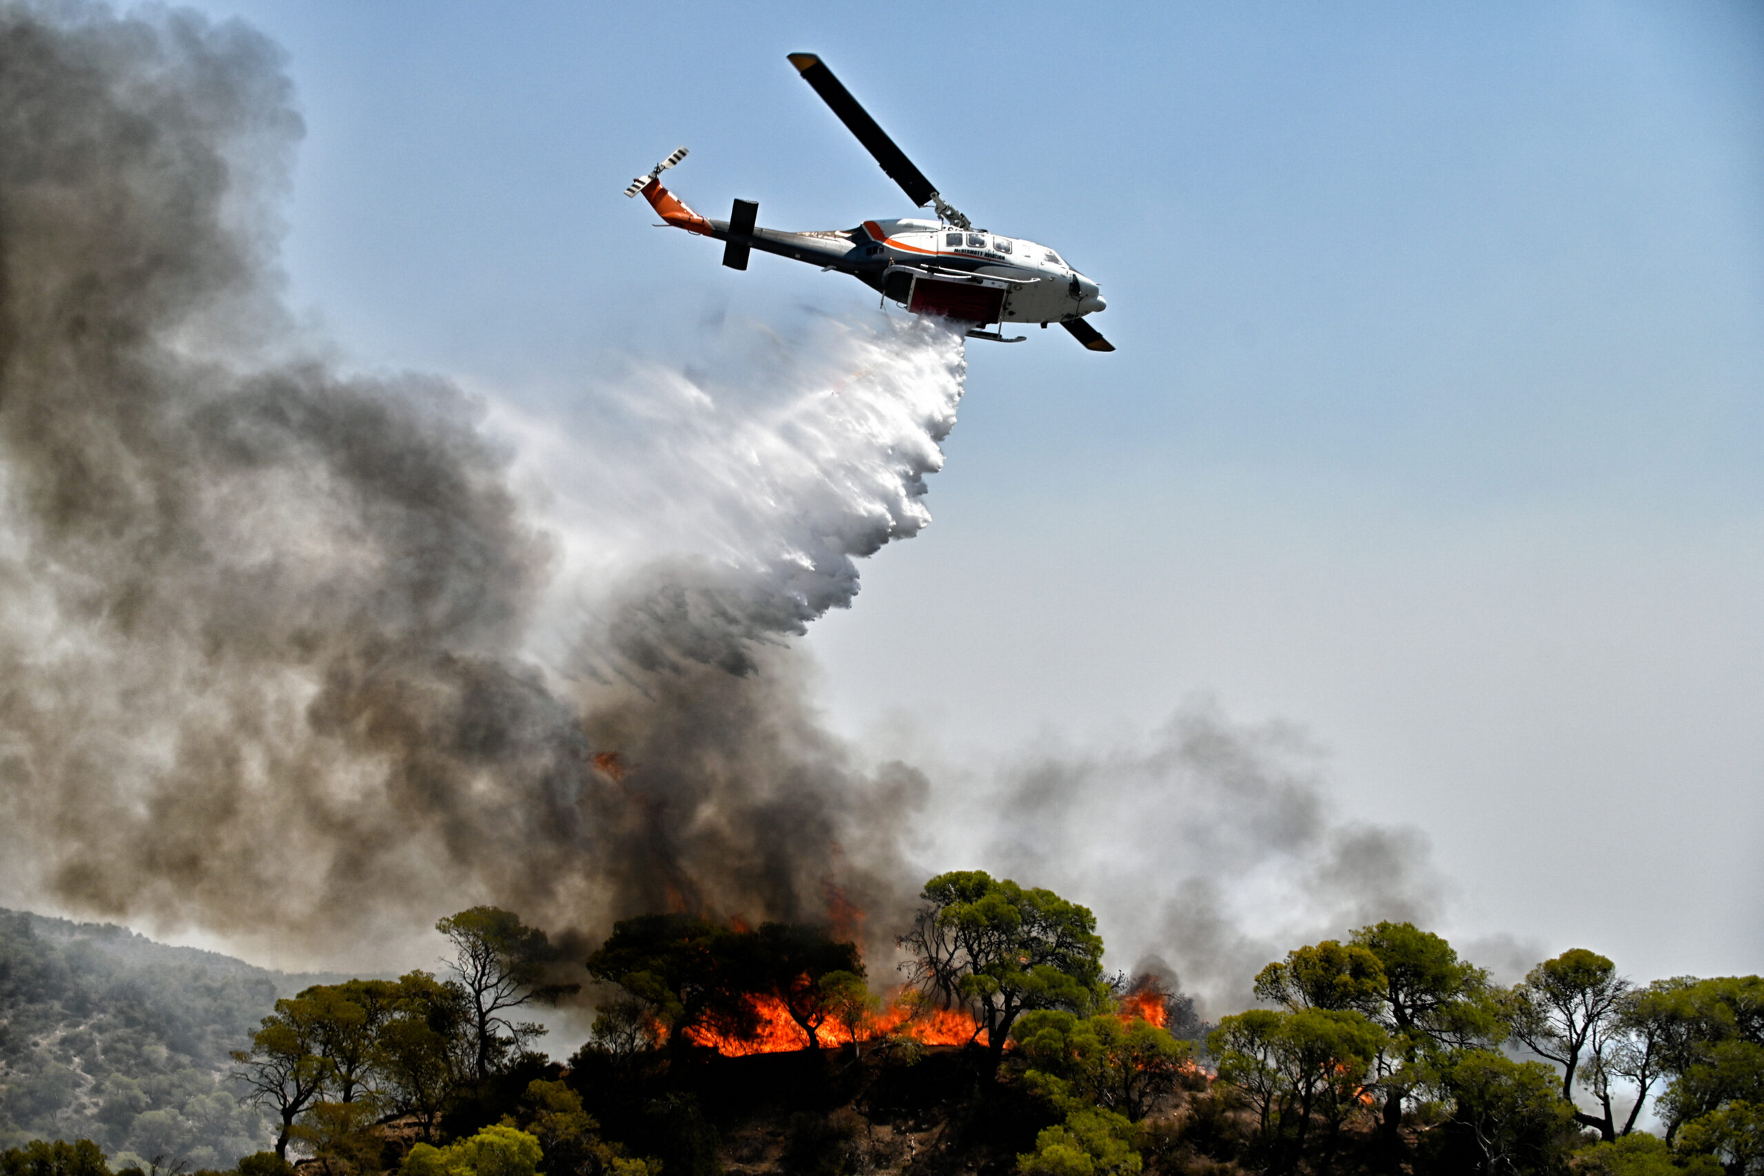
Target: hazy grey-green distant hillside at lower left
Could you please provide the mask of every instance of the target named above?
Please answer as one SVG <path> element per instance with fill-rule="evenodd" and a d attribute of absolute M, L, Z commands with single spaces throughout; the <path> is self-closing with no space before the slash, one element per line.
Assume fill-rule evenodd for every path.
<path fill-rule="evenodd" d="M 339 979 L 0 910 L 0 1146 L 88 1137 L 113 1167 L 231 1167 L 265 1132 L 224 1083 L 228 1051 L 279 996 Z"/>

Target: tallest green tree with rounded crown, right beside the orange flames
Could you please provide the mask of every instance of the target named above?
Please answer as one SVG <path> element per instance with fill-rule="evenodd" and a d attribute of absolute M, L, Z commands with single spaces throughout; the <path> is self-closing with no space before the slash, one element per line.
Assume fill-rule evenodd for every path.
<path fill-rule="evenodd" d="M 901 966 L 944 1007 L 974 1012 L 991 1072 L 1020 1014 L 1097 1003 L 1102 938 L 1088 908 L 979 869 L 938 875 L 919 897 L 912 931 L 900 938 L 912 961 Z"/>

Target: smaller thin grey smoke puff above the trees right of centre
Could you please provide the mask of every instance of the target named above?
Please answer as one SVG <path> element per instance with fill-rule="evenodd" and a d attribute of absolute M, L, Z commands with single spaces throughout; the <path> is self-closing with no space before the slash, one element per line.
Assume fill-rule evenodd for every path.
<path fill-rule="evenodd" d="M 1441 908 L 1425 837 L 1337 818 L 1319 760 L 1300 728 L 1200 700 L 1136 742 L 1025 753 L 958 820 L 988 830 L 990 869 L 1092 906 L 1118 966 L 1215 1017 L 1300 943 Z"/>

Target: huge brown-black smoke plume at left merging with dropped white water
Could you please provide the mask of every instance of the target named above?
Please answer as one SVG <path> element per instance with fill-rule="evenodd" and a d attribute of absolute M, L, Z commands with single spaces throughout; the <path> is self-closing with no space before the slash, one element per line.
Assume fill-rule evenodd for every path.
<path fill-rule="evenodd" d="M 494 406 L 298 358 L 300 132 L 242 25 L 0 4 L 7 885 L 356 957 L 475 901 L 893 910 L 924 779 L 856 765 L 776 642 L 924 525 L 960 340 L 820 324 L 753 404 L 672 372 L 699 457 L 762 460 L 674 515 L 589 460 L 602 529 L 540 525 Z"/>

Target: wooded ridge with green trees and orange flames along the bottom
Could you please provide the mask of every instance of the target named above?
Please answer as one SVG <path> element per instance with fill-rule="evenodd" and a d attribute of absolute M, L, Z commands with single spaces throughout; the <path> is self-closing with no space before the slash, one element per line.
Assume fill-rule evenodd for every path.
<path fill-rule="evenodd" d="M 1270 963 L 1259 1007 L 1205 1024 L 1166 982 L 1108 975 L 1087 908 L 979 871 L 926 883 L 900 977 L 866 975 L 854 942 L 813 924 L 646 915 L 586 957 L 496 908 L 439 931 L 453 950 L 443 971 L 312 984 L 240 1033 L 226 1102 L 252 1151 L 233 1171 L 1739 1176 L 1764 1164 L 1759 977 L 1637 986 L 1575 949 L 1503 987 L 1438 934 L 1379 922 Z M 16 940 L 0 966 L 9 994 L 41 989 L 42 964 Z M 593 1031 L 564 1061 L 538 1049 L 540 1024 L 505 1016 L 584 989 Z M 34 1016 L 42 1051 L 49 1021 Z M 185 1031 L 240 1031 L 236 1012 L 217 1019 Z M 12 1014 L 5 1040 L 23 1028 Z M 108 1086 L 148 1081 L 122 1070 Z M 9 1061 L 0 1105 L 16 1114 L 34 1090 L 53 1098 Z M 4 1153 L 5 1176 L 199 1167 L 189 1153 L 41 1141 L 76 1114 L 69 1102 L 34 1128 L 7 1125 L 39 1139 Z"/>

